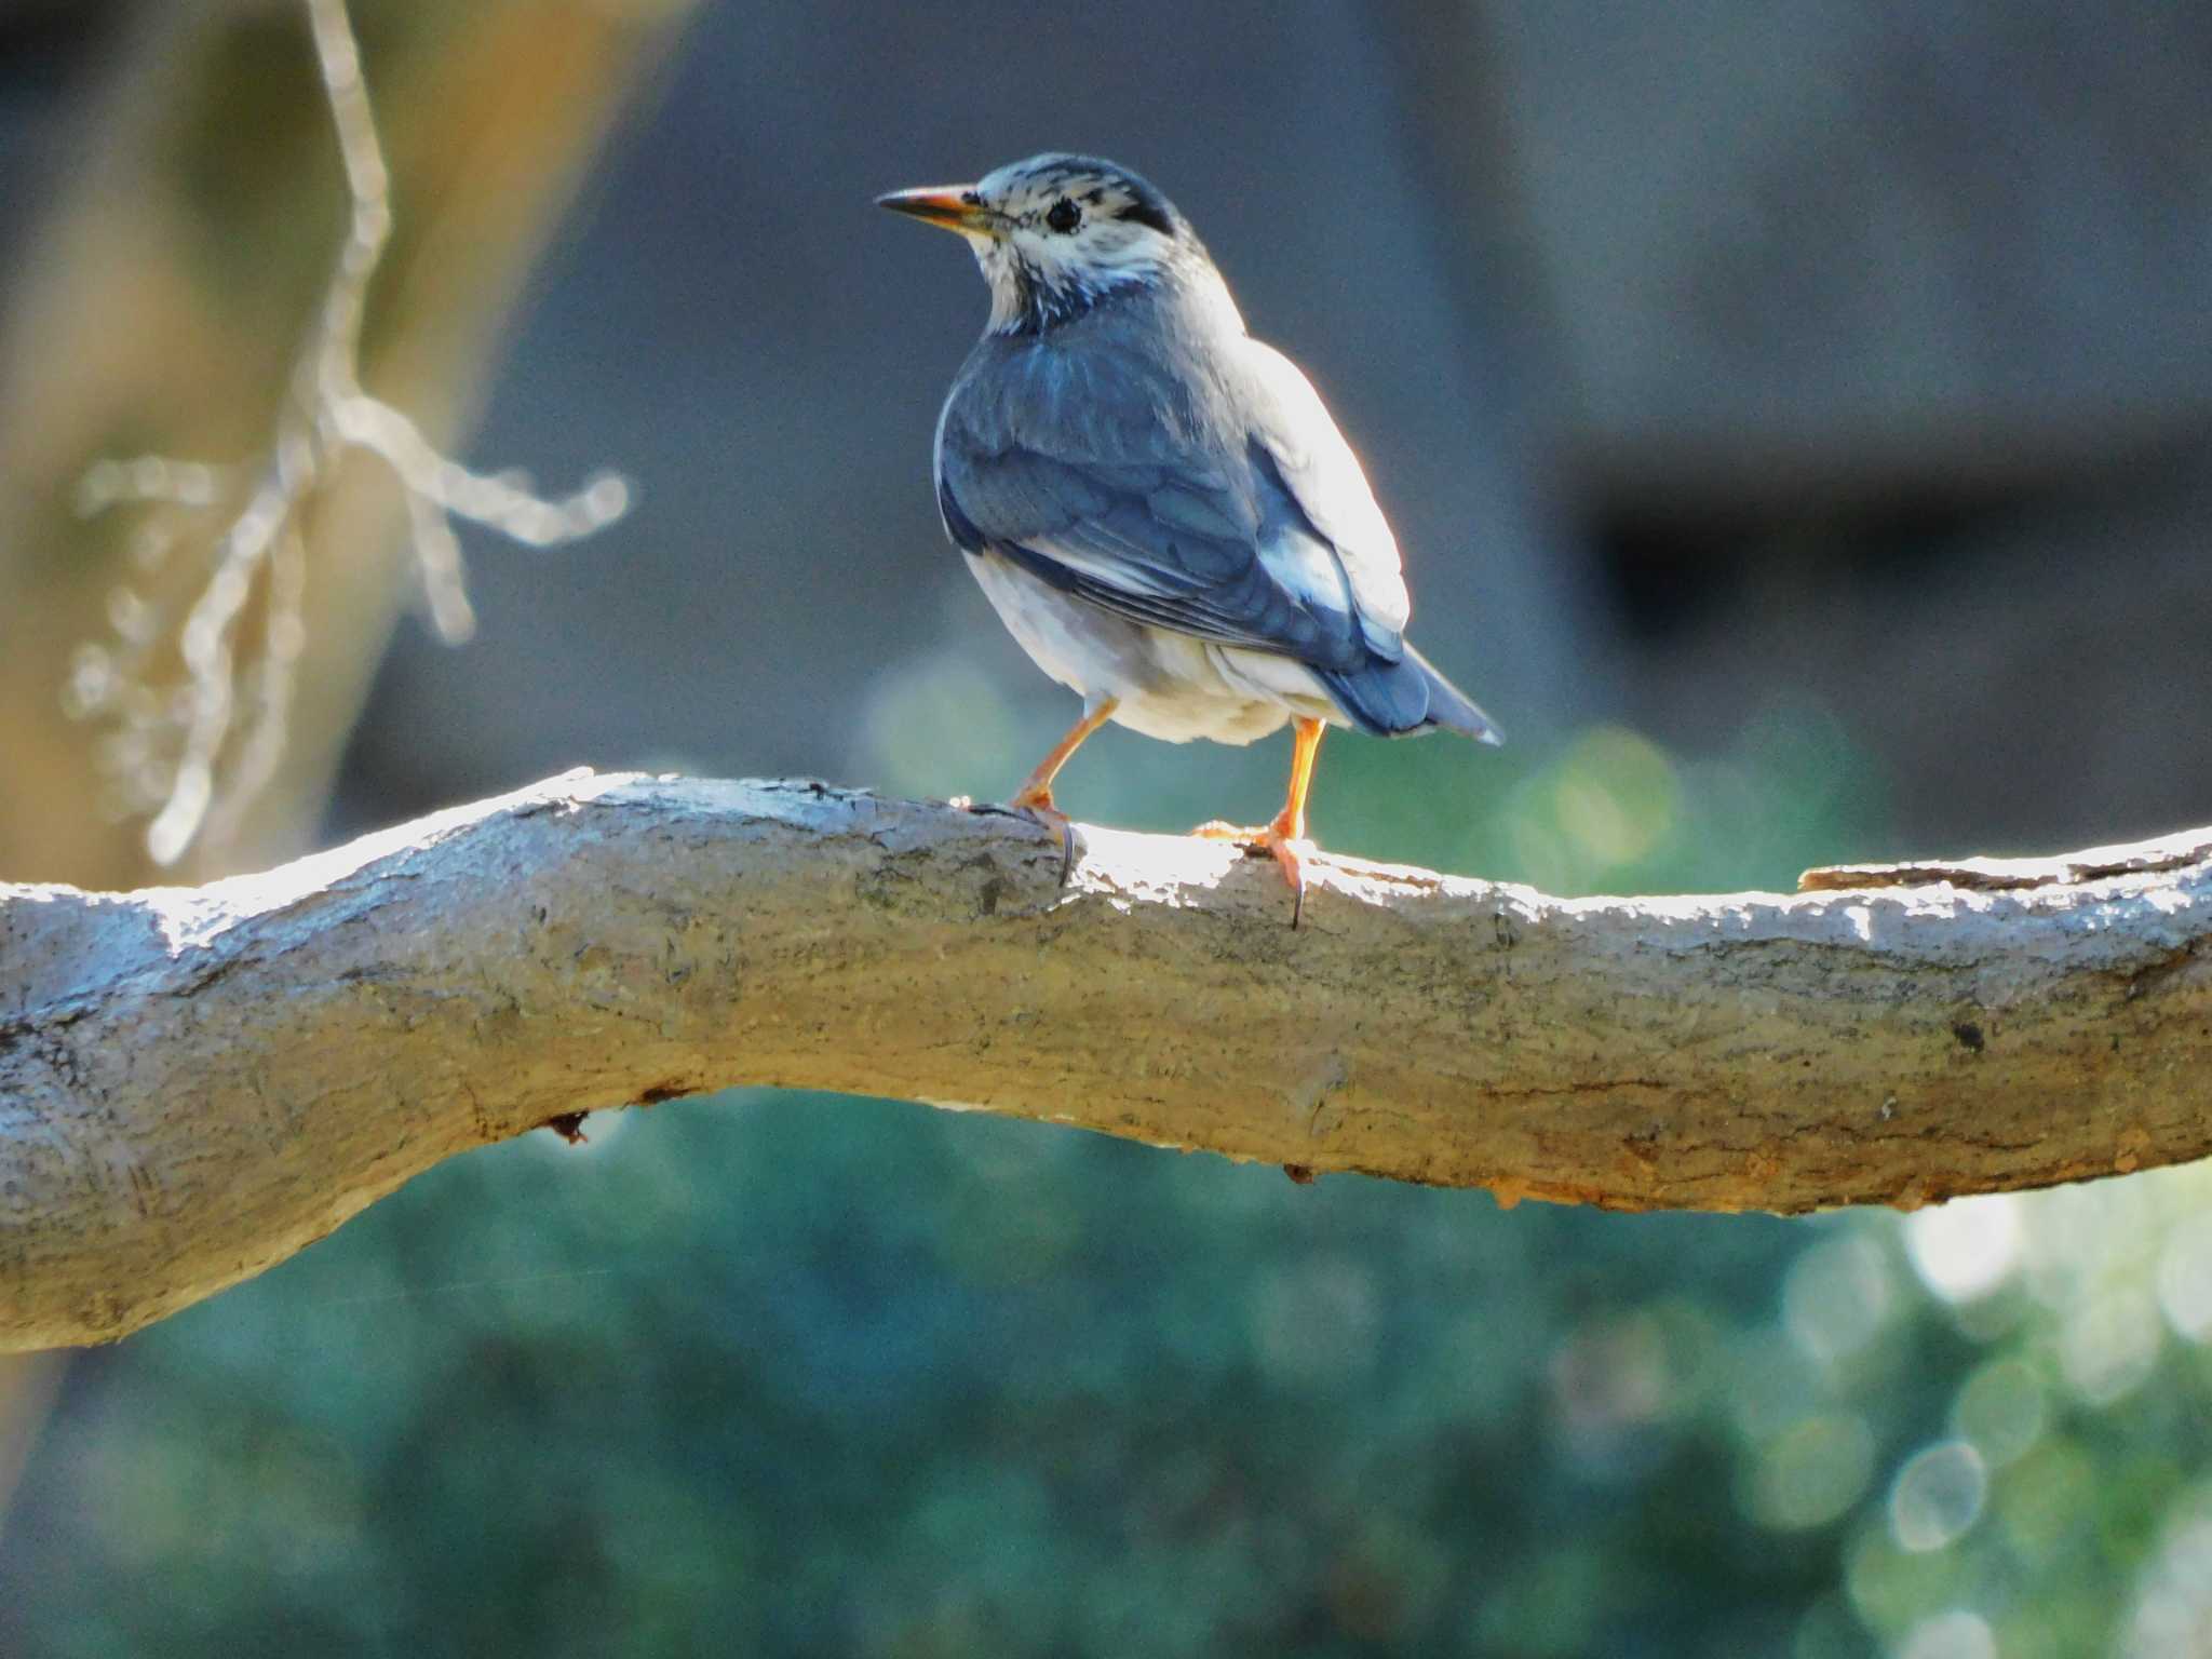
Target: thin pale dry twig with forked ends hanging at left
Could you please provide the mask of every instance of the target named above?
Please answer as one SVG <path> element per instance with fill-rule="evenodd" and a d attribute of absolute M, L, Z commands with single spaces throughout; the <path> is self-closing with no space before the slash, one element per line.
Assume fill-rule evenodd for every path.
<path fill-rule="evenodd" d="M 307 644 L 307 518 L 347 453 L 376 456 L 398 480 L 431 624 L 453 644 L 476 628 L 453 520 L 553 546 L 591 535 L 628 507 L 628 487 L 613 476 L 549 500 L 520 476 L 473 473 L 442 456 L 405 411 L 361 387 L 369 281 L 392 237 L 389 173 L 345 0 L 303 4 L 349 217 L 268 458 L 250 489 L 239 469 L 166 456 L 100 462 L 77 489 L 86 515 L 117 507 L 148 513 L 133 538 L 142 586 L 111 595 L 113 637 L 77 648 L 66 706 L 113 723 L 100 745 L 102 772 L 119 812 L 150 814 L 146 849 L 161 865 L 181 858 L 210 823 L 221 832 L 219 816 L 241 812 L 276 768 Z M 241 491 L 246 500 L 232 511 Z M 186 571 L 181 549 L 192 555 Z M 257 650 L 246 657 L 241 624 L 257 602 Z M 153 657 L 170 637 L 184 681 L 157 686 Z"/>

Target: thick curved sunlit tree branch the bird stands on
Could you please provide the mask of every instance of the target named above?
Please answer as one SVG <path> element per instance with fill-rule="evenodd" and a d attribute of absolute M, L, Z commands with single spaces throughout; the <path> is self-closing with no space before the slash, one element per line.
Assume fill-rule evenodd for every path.
<path fill-rule="evenodd" d="M 0 1347 L 124 1336 L 453 1152 L 730 1084 L 1630 1210 L 2212 1150 L 2212 832 L 1792 898 L 1329 858 L 1298 931 L 1219 843 L 1082 830 L 1057 867 L 1000 812 L 571 774 L 199 889 L 0 887 Z"/>

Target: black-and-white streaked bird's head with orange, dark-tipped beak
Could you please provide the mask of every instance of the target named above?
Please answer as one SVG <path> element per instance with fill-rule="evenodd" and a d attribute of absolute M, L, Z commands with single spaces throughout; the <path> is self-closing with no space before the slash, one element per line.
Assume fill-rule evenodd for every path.
<path fill-rule="evenodd" d="M 1175 204 L 1091 155 L 1033 155 L 975 184 L 894 190 L 878 204 L 967 237 L 1000 334 L 1057 327 L 1130 290 L 1219 283 Z"/>

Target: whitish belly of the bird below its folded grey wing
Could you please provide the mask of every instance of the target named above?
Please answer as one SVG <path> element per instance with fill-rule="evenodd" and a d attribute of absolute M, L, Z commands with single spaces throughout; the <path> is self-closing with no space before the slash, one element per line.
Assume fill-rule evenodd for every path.
<path fill-rule="evenodd" d="M 967 562 L 1031 661 L 1086 708 L 1113 697 L 1115 723 L 1133 732 L 1168 743 L 1252 743 L 1292 714 L 1347 723 L 1321 681 L 1290 657 L 1126 622 L 995 553 L 969 553 Z"/>

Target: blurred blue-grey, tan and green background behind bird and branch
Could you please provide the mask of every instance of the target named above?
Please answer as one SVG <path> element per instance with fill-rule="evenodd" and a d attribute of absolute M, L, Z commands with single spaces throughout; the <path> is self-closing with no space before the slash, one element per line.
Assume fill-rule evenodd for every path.
<path fill-rule="evenodd" d="M 1192 217 L 1513 737 L 1336 739 L 1323 845 L 1593 894 L 2212 821 L 2212 13 L 352 9 L 367 387 L 635 509 L 465 538 L 451 650 L 336 469 L 283 754 L 155 869 L 221 515 L 80 482 L 250 482 L 345 190 L 292 0 L 0 4 L 0 878 L 573 763 L 1004 794 L 1073 699 L 931 502 L 984 294 L 869 199 L 1040 148 Z M 1106 732 L 1062 796 L 1283 761 Z M 0 1371 L 0 1652 L 2212 1655 L 2203 1170 L 1785 1223 L 768 1091 L 588 1133 Z"/>

